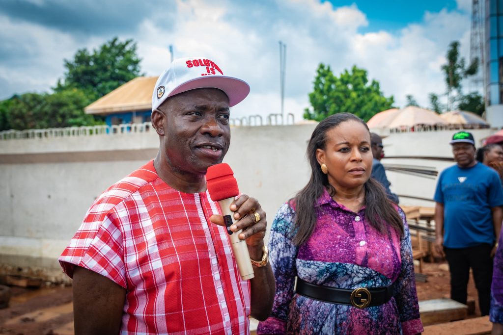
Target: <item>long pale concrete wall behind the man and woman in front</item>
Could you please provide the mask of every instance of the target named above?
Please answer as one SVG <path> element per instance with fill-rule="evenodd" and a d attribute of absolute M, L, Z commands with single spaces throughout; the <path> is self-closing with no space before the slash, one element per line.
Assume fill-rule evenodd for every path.
<path fill-rule="evenodd" d="M 315 125 L 233 127 L 225 162 L 239 189 L 259 199 L 271 224 L 279 206 L 309 178 L 305 150 Z M 475 130 L 477 141 L 494 130 Z M 454 131 L 391 134 L 391 156 L 452 157 Z M 154 132 L 0 141 L 0 270 L 2 265 L 52 268 L 93 200 L 108 186 L 152 159 Z M 451 162 L 383 160 L 442 171 Z M 436 178 L 388 172 L 398 194 L 432 198 Z M 432 202 L 401 198 L 406 205 Z M 58 277 L 64 278 L 63 276 Z M 51 278 L 54 279 L 54 278 Z"/>

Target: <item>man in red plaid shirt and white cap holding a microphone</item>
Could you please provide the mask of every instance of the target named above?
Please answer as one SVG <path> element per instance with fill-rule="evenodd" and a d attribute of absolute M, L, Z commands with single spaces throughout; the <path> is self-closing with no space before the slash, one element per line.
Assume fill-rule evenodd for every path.
<path fill-rule="evenodd" d="M 230 207 L 254 260 L 245 281 L 205 180 L 229 148 L 229 107 L 248 92 L 209 59 L 177 59 L 160 75 L 157 156 L 95 200 L 59 258 L 73 278 L 75 334 L 247 334 L 249 315 L 269 316 L 266 213 L 244 194 Z"/>

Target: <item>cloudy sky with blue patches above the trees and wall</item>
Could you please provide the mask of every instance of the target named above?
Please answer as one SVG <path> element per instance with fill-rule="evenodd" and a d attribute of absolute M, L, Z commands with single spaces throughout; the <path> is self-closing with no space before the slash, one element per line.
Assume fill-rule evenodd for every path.
<path fill-rule="evenodd" d="M 287 45 L 285 113 L 302 119 L 320 62 L 334 74 L 368 70 L 384 95 L 423 106 L 446 87 L 440 70 L 451 41 L 469 58 L 471 0 L 2 0 L 0 99 L 50 92 L 63 62 L 118 36 L 137 43 L 142 72 L 175 57 L 214 60 L 244 79 L 250 95 L 234 118 L 279 113 L 279 41 Z"/>

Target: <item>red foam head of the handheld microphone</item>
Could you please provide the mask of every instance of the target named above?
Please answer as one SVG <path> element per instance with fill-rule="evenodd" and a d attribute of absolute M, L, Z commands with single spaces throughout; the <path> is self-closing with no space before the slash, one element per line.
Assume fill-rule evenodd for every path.
<path fill-rule="evenodd" d="M 206 185 L 213 201 L 232 198 L 239 194 L 234 172 L 227 163 L 216 164 L 208 168 Z"/>

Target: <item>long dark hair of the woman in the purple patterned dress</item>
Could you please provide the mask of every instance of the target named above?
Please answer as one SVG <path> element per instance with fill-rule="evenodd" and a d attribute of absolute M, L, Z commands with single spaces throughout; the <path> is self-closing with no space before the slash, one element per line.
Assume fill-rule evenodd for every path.
<path fill-rule="evenodd" d="M 330 196 L 336 194 L 336 189 L 328 183 L 325 175 L 316 160 L 316 150 L 325 150 L 326 133 L 347 121 L 357 121 L 369 130 L 367 124 L 360 118 L 350 113 L 339 113 L 329 116 L 321 121 L 314 129 L 309 144 L 307 145 L 307 158 L 311 165 L 311 178 L 306 186 L 294 197 L 295 201 L 295 225 L 292 229 L 293 243 L 297 246 L 304 244 L 311 236 L 316 225 L 316 201 L 327 189 Z M 370 134 L 370 131 L 369 131 Z M 372 178 L 365 182 L 365 216 L 370 225 L 379 232 L 386 232 L 390 226 L 403 236 L 404 228 L 400 215 L 386 197 L 384 187 Z"/>

